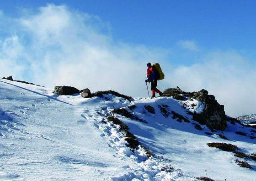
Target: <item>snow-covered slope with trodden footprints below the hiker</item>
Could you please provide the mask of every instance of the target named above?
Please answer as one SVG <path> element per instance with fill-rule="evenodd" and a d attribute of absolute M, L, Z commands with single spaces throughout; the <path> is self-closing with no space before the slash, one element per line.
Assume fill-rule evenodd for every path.
<path fill-rule="evenodd" d="M 187 181 L 206 174 L 214 180 L 255 180 L 256 161 L 207 146 L 232 143 L 251 155 L 255 129 L 228 123 L 224 132 L 202 125 L 199 131 L 191 112 L 203 111 L 201 102 L 167 97 L 130 102 L 113 95 L 85 99 L 52 91 L 0 79 L 0 180 Z M 132 117 L 121 116 L 122 110 Z M 143 147 L 131 151 L 120 126 L 107 116 L 125 123 Z M 148 157 L 145 148 L 154 156 Z M 252 168 L 238 166 L 236 159 Z"/>

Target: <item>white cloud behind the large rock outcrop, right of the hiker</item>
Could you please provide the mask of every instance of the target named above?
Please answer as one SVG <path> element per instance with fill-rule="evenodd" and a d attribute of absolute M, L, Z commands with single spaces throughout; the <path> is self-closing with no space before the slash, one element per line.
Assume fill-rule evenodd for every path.
<path fill-rule="evenodd" d="M 171 72 L 171 85 L 184 91 L 206 89 L 230 116 L 256 113 L 256 69 L 234 51 L 214 52 L 202 64 L 181 66 Z"/>

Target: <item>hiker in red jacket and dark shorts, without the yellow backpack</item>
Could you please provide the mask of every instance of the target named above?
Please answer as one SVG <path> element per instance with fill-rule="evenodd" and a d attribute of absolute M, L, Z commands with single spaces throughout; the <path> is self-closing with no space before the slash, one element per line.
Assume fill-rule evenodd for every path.
<path fill-rule="evenodd" d="M 147 63 L 147 66 L 148 66 L 148 70 L 147 70 L 148 79 L 146 79 L 145 82 L 146 83 L 151 82 L 151 91 L 152 91 L 151 98 L 155 97 L 155 92 L 157 92 L 160 96 L 162 96 L 163 93 L 156 88 L 159 72 L 155 69 L 154 66 L 151 65 L 150 62 Z"/>

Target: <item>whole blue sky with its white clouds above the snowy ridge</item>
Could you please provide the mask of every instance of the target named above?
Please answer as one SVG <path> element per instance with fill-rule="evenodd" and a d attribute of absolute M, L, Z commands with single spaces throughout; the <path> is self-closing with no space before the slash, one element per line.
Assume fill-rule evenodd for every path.
<path fill-rule="evenodd" d="M 207 89 L 229 114 L 255 113 L 256 96 L 244 103 L 256 89 L 255 9 L 253 0 L 0 1 L 0 76 L 147 96 L 145 64 L 157 61 L 161 90 Z"/>

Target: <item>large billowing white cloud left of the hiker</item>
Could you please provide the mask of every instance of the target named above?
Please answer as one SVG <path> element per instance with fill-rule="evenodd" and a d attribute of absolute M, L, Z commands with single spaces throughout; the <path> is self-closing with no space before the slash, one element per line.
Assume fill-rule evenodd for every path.
<path fill-rule="evenodd" d="M 29 76 L 30 81 L 51 87 L 73 85 L 91 91 L 111 89 L 143 95 L 146 63 L 161 60 L 169 53 L 118 43 L 112 40 L 108 23 L 65 5 L 41 7 L 37 13 L 20 17 L 18 25 L 17 46 L 10 44 L 9 50 L 0 51 L 5 57 L 0 60 L 5 63 L 5 75 L 25 80 Z M 11 51 L 20 52 L 20 45 L 22 54 L 12 54 Z M 24 66 L 18 69 L 19 74 L 13 74 L 11 67 L 19 61 Z"/>

